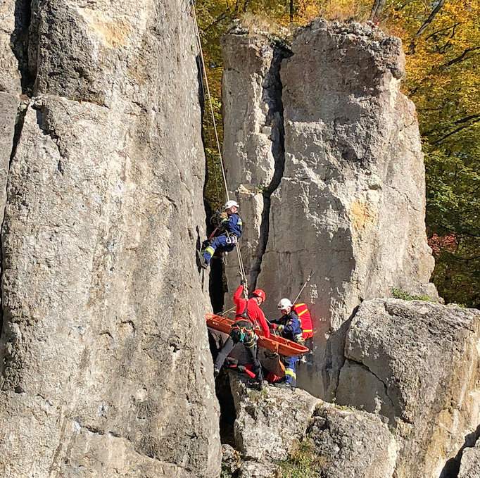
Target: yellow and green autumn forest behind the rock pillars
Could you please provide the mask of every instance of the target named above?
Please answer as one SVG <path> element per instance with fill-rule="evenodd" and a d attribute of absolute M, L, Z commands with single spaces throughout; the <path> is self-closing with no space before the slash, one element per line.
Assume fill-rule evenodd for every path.
<path fill-rule="evenodd" d="M 232 20 L 275 32 L 322 16 L 372 21 L 400 37 L 407 58 L 403 91 L 415 102 L 427 172 L 427 235 L 432 280 L 446 302 L 480 308 L 480 0 L 197 0 L 213 108 L 222 139 L 220 37 Z M 209 181 L 218 207 L 219 158 L 204 115 Z"/>

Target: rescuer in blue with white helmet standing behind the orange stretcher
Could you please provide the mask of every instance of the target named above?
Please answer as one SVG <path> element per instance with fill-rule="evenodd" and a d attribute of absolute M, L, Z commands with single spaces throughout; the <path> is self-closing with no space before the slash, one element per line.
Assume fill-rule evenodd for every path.
<path fill-rule="evenodd" d="M 300 319 L 295 311 L 292 310 L 293 304 L 288 298 L 282 298 L 278 303 L 278 308 L 283 314 L 278 320 L 271 320 L 272 328 L 277 330 L 285 339 L 298 342 L 302 340 L 302 327 Z M 296 387 L 296 365 L 299 356 L 284 357 L 285 379 L 282 382 L 277 382 L 274 386 L 282 388 L 294 389 Z"/>

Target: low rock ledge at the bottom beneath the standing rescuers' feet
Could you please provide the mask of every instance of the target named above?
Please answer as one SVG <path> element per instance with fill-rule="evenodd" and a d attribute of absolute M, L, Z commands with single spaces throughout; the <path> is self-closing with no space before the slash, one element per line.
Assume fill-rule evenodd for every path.
<path fill-rule="evenodd" d="M 246 388 L 231 373 L 234 397 L 235 445 L 225 449 L 225 467 L 244 478 L 275 476 L 282 462 L 301 444 L 310 445 L 319 476 L 329 478 L 391 478 L 397 444 L 386 424 L 370 413 L 338 407 L 306 391 L 267 386 Z M 236 467 L 236 470 L 232 469 Z M 313 470 L 312 470 L 313 471 Z"/>

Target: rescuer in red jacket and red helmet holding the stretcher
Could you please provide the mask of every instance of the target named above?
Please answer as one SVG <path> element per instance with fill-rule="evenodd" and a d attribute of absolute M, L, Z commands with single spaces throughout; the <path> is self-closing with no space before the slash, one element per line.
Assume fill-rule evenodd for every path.
<path fill-rule="evenodd" d="M 265 337 L 270 337 L 270 329 L 268 328 L 267 319 L 260 309 L 260 305 L 265 301 L 265 292 L 262 289 L 255 289 L 252 293 L 253 297 L 248 301 L 242 297 L 244 294 L 244 286 L 239 286 L 234 294 L 234 303 L 236 306 L 235 322 L 232 325 L 230 337 L 225 342 L 222 350 L 217 355 L 213 373 L 215 377 L 220 373 L 225 359 L 232 351 L 234 346 L 241 342 L 244 344 L 248 356 L 253 363 L 253 373 L 257 378 L 260 388 L 263 387 L 262 366 L 257 358 L 257 335 L 255 329 L 262 329 Z"/>

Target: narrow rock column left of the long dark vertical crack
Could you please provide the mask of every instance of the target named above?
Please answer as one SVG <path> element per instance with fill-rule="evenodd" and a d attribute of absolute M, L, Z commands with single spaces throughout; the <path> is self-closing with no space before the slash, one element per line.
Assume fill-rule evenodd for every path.
<path fill-rule="evenodd" d="M 229 188 L 248 222 L 241 250 L 254 284 L 268 239 L 270 196 L 284 168 L 279 69 L 290 52 L 260 34 L 227 34 L 222 37 L 222 52 L 223 153 Z M 238 282 L 236 260 L 227 265 L 227 279 L 229 289 L 234 290 Z"/>

